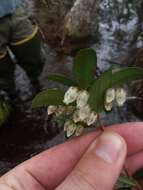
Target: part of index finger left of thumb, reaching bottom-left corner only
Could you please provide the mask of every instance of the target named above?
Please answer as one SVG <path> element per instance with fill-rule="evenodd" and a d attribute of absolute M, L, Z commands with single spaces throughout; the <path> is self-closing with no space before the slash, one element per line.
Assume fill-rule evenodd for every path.
<path fill-rule="evenodd" d="M 0 178 L 0 189 L 53 190 L 71 172 L 96 133 L 85 135 L 45 151 Z M 64 155 L 64 156 L 63 156 Z M 29 188 L 28 188 L 29 189 Z"/>

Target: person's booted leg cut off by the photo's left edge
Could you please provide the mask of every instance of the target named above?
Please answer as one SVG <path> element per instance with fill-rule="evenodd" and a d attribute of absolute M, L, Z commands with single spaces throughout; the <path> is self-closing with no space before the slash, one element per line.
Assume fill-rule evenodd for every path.
<path fill-rule="evenodd" d="M 15 65 L 7 53 L 10 38 L 10 16 L 0 18 L 0 90 L 11 93 L 14 88 Z"/>

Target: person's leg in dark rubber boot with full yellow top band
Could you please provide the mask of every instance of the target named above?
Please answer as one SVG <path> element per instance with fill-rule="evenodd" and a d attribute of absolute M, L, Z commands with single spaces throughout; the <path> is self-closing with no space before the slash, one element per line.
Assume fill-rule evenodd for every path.
<path fill-rule="evenodd" d="M 38 85 L 38 77 L 43 70 L 41 59 L 41 35 L 25 11 L 19 8 L 13 15 L 13 36 L 11 49 L 18 64 L 27 72 L 33 85 Z"/>

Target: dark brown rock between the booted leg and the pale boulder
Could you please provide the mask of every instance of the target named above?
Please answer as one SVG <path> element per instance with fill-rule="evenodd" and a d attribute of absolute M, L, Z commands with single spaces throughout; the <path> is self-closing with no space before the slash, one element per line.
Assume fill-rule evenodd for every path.
<path fill-rule="evenodd" d="M 75 0 L 31 0 L 35 2 L 35 19 L 48 42 L 56 43 L 63 38 L 65 15 Z"/>

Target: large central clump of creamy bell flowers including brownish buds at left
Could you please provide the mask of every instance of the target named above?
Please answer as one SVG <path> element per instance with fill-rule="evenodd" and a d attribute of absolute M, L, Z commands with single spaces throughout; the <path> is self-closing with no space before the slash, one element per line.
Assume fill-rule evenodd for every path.
<path fill-rule="evenodd" d="M 51 105 L 48 107 L 48 115 L 69 115 L 69 119 L 64 125 L 67 137 L 73 134 L 76 136 L 81 135 L 84 126 L 90 126 L 97 120 L 97 114 L 91 111 L 88 99 L 88 91 L 79 90 L 77 87 L 70 87 L 64 95 L 63 103 L 65 106 Z"/>

